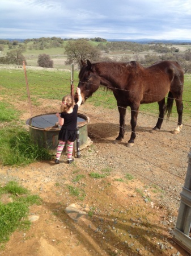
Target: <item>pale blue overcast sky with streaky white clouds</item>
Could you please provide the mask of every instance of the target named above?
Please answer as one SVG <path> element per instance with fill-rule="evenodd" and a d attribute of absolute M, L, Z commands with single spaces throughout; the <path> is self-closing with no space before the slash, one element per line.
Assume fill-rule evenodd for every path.
<path fill-rule="evenodd" d="M 0 39 L 189 39 L 190 0 L 1 0 Z"/>

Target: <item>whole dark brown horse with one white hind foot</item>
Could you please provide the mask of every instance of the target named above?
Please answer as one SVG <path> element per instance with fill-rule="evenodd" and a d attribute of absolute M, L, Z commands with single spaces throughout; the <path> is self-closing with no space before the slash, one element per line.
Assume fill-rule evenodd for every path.
<path fill-rule="evenodd" d="M 120 143 L 124 138 L 126 108 L 131 109 L 131 137 L 127 146 L 134 145 L 136 137 L 135 127 L 140 104 L 158 102 L 159 118 L 152 132 L 160 130 L 164 114 L 167 118 L 171 114 L 173 100 L 176 101 L 179 114 L 178 126 L 174 134 L 180 132 L 182 127 L 182 91 L 184 83 L 184 71 L 175 61 L 159 61 L 150 67 L 144 68 L 137 61 L 128 63 L 100 62 L 92 64 L 82 62 L 79 72 L 79 84 L 82 103 L 90 97 L 100 85 L 111 89 L 117 100 L 120 113 L 120 133 L 114 143 Z M 167 105 L 165 96 L 168 94 Z M 75 96 L 76 100 L 76 96 Z"/>

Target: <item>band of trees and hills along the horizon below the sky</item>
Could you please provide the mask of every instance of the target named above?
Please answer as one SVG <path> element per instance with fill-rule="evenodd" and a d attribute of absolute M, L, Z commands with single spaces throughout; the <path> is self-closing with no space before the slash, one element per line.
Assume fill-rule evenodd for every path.
<path fill-rule="evenodd" d="M 26 49 L 45 49 L 64 47 L 63 53 L 66 54 L 67 60 L 65 64 L 77 64 L 80 67 L 80 60 L 85 61 L 89 59 L 91 61 L 139 61 L 144 66 L 151 65 L 152 63 L 160 60 L 173 60 L 178 61 L 185 72 L 191 72 L 191 49 L 189 48 L 184 53 L 180 53 L 177 46 L 172 44 L 140 44 L 134 42 L 107 42 L 105 39 L 94 38 L 94 39 L 67 39 L 67 43 L 63 46 L 63 42 L 66 39 L 61 38 L 38 38 L 38 39 L 26 39 L 23 43 L 19 43 L 16 40 L 0 40 L 0 51 L 3 52 L 4 46 L 9 46 L 9 51 L 6 56 L 0 57 L 1 64 L 16 64 L 20 65 L 23 60 L 26 61 L 23 53 Z M 96 46 L 91 42 L 98 42 Z M 28 46 L 29 42 L 30 43 Z M 120 52 L 121 57 L 108 57 L 107 54 L 111 52 Z M 144 56 L 141 52 L 148 52 Z M 130 57 L 133 54 L 133 59 Z M 53 60 L 50 59 L 49 55 L 40 54 L 38 56 L 38 65 L 40 67 L 53 68 Z M 26 64 L 27 65 L 27 64 Z"/>

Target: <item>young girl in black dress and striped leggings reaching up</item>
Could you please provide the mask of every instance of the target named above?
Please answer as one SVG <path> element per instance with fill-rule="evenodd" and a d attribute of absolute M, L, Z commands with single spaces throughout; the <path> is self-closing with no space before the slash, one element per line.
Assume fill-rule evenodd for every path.
<path fill-rule="evenodd" d="M 74 159 L 71 158 L 73 154 L 74 141 L 77 137 L 77 112 L 82 103 L 82 96 L 80 94 L 80 88 L 77 87 L 78 102 L 74 104 L 74 99 L 71 95 L 66 95 L 62 98 L 61 114 L 56 113 L 58 117 L 58 125 L 62 126 L 58 135 L 58 148 L 56 153 L 55 163 L 60 163 L 60 156 L 67 142 L 67 163 L 72 163 Z"/>

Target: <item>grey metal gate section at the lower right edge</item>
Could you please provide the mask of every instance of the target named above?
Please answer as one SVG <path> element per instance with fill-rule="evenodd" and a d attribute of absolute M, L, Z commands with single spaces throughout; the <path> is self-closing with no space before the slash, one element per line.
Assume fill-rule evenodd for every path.
<path fill-rule="evenodd" d="M 188 169 L 180 196 L 179 215 L 172 239 L 191 253 L 191 151 L 188 153 Z"/>

